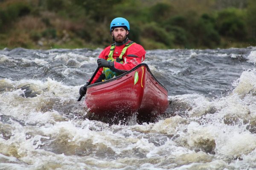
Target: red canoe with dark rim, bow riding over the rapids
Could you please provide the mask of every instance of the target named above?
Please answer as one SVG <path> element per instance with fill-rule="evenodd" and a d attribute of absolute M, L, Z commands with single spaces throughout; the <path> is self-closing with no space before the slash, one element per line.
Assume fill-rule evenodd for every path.
<path fill-rule="evenodd" d="M 137 113 L 137 118 L 149 122 L 163 114 L 169 102 L 167 89 L 142 63 L 118 77 L 87 86 L 85 104 L 99 117 Z"/>

